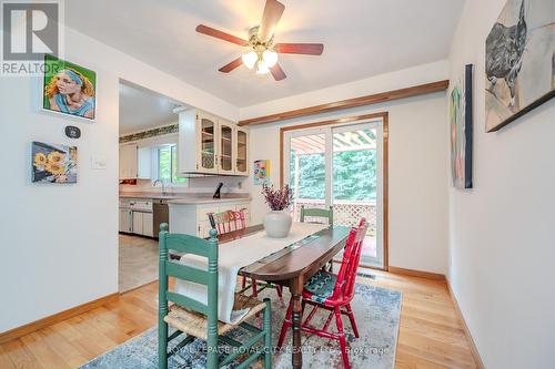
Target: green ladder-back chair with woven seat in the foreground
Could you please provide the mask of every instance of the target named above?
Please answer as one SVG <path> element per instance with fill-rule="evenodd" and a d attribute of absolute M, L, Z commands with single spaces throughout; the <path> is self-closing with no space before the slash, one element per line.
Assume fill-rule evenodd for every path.
<path fill-rule="evenodd" d="M 234 309 L 250 308 L 249 314 L 235 325 L 224 324 L 218 320 L 218 238 L 216 230 L 210 230 L 210 239 L 205 240 L 190 235 L 169 234 L 168 224 L 160 226 L 160 286 L 159 286 L 159 321 L 158 321 L 158 355 L 159 368 L 168 368 L 168 358 L 178 352 L 194 338 L 206 341 L 206 368 L 216 369 L 233 362 L 241 357 L 243 360 L 236 368 L 248 368 L 255 360 L 263 359 L 264 368 L 272 367 L 272 325 L 270 299 L 260 301 L 252 296 L 236 295 Z M 168 256 L 172 249 L 183 254 L 199 255 L 208 258 L 208 270 L 186 266 Z M 208 304 L 201 304 L 184 295 L 169 290 L 168 277 L 172 276 L 188 280 L 208 288 Z M 172 301 L 169 307 L 168 301 Z M 263 311 L 263 328 L 260 329 L 248 324 L 246 319 Z M 175 332 L 169 334 L 169 326 L 175 328 Z M 244 329 L 251 334 L 244 344 L 225 336 L 232 329 Z M 179 336 L 184 339 L 170 352 L 168 344 Z M 245 337 L 244 335 L 242 337 Z M 222 350 L 231 352 L 221 355 L 219 344 L 234 347 L 234 350 Z M 245 353 L 246 352 L 246 353 Z"/>

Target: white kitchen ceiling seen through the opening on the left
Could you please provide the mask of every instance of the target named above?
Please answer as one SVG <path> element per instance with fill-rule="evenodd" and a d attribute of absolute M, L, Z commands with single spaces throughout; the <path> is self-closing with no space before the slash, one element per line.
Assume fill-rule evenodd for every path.
<path fill-rule="evenodd" d="M 120 83 L 120 134 L 176 123 L 175 106 L 158 93 Z"/>

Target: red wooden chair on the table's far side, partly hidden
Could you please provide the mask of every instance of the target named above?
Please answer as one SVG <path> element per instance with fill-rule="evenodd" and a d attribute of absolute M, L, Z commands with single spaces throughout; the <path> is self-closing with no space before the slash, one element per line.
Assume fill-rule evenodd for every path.
<path fill-rule="evenodd" d="M 246 222 L 244 216 L 244 208 L 239 212 L 228 211 L 222 213 L 211 213 L 209 214 L 210 224 L 212 228 L 218 230 L 218 234 L 225 234 L 232 230 L 246 228 Z M 259 289 L 259 284 L 255 279 L 252 279 L 251 285 L 246 285 L 246 277 L 242 277 L 241 293 L 243 294 L 246 289 L 252 288 L 252 296 L 258 297 L 259 293 L 266 287 L 275 287 L 278 296 L 280 297 L 282 306 L 285 306 L 283 301 L 282 288 L 279 285 L 263 284 L 262 288 Z"/>

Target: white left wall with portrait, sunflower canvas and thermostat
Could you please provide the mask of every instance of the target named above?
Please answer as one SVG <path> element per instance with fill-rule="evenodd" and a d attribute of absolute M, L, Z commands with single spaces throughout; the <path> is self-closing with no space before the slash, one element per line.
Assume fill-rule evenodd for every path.
<path fill-rule="evenodd" d="M 93 124 L 40 113 L 37 79 L 0 79 L 3 194 L 0 222 L 0 331 L 118 291 L 119 79 L 230 120 L 231 104 L 70 29 L 65 59 L 98 72 Z M 81 127 L 70 141 L 63 127 Z M 30 183 L 30 143 L 75 144 L 79 183 Z M 91 168 L 91 156 L 108 168 Z"/>

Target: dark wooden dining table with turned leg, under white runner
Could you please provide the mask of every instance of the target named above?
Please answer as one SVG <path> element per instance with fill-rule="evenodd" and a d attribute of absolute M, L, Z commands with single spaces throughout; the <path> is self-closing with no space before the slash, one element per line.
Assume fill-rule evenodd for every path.
<path fill-rule="evenodd" d="M 219 244 L 241 239 L 263 232 L 262 225 L 253 225 L 218 236 Z M 346 244 L 350 227 L 331 226 L 311 234 L 293 244 L 284 244 L 283 248 L 268 255 L 255 263 L 243 266 L 239 274 L 245 277 L 289 287 L 292 298 L 291 347 L 292 367 L 302 368 L 301 319 L 302 294 L 304 283 L 325 266 L 340 253 Z"/>

